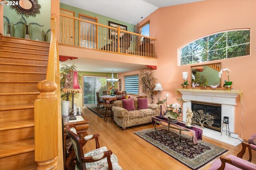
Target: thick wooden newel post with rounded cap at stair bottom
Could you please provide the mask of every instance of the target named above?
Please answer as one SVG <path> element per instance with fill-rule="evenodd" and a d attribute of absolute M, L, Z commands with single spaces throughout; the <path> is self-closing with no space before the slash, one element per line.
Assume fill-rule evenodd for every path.
<path fill-rule="evenodd" d="M 43 80 L 37 84 L 40 95 L 35 101 L 35 161 L 38 170 L 55 170 L 58 156 L 58 98 L 56 83 Z"/>

